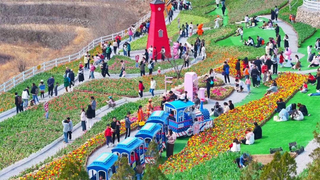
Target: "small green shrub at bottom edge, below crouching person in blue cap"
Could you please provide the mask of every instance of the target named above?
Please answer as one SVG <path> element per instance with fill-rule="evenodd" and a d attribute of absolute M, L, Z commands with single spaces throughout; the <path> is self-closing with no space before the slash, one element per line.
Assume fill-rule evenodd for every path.
<path fill-rule="evenodd" d="M 240 179 L 242 180 L 260 180 L 260 164 L 251 161 L 245 168 L 242 168 Z"/>

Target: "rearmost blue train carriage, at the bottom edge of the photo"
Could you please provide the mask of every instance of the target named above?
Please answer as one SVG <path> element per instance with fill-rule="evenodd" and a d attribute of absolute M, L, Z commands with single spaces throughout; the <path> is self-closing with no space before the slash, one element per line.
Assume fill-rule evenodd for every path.
<path fill-rule="evenodd" d="M 96 160 L 87 166 L 89 178 L 98 180 L 100 176 L 102 179 L 110 179 L 112 174 L 115 173 L 116 168 L 114 163 L 118 156 L 113 153 L 102 153 Z"/>

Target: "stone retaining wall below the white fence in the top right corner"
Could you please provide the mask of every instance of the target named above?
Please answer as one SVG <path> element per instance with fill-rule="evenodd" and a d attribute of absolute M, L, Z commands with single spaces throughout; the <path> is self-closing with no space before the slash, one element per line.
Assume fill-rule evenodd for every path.
<path fill-rule="evenodd" d="M 306 7 L 298 7 L 296 22 L 303 22 L 312 27 L 320 28 L 320 11 L 310 10 Z"/>

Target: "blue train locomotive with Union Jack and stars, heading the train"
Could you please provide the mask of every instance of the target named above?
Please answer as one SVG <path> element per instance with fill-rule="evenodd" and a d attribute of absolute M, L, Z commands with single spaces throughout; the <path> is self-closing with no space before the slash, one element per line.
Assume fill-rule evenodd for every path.
<path fill-rule="evenodd" d="M 164 103 L 164 110 L 168 113 L 173 111 L 173 116 L 168 117 L 169 128 L 176 133 L 177 137 L 191 136 L 193 133 L 193 123 L 190 116 L 190 107 L 195 104 L 192 101 L 171 101 Z M 196 111 L 196 118 L 198 118 L 200 131 L 211 128 L 213 120 L 210 118 L 210 113 L 203 108 L 203 102 L 199 110 Z"/>

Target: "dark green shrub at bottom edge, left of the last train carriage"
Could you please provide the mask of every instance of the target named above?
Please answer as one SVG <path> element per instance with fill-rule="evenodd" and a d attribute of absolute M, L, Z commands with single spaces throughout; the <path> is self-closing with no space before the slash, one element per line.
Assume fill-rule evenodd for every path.
<path fill-rule="evenodd" d="M 65 179 L 86 180 L 89 179 L 89 176 L 80 161 L 72 161 L 61 167 L 58 180 Z"/>

